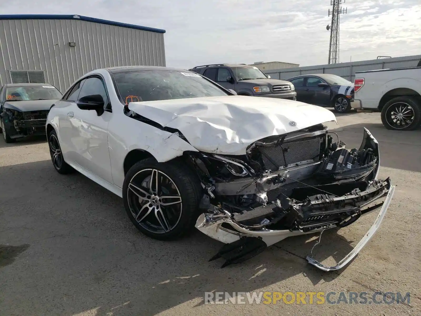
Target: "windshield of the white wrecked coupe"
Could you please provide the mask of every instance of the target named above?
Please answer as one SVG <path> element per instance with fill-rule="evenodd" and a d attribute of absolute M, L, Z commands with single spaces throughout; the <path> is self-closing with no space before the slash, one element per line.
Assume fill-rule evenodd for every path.
<path fill-rule="evenodd" d="M 194 72 L 145 70 L 114 74 L 120 96 L 126 104 L 204 96 L 226 96 L 223 90 Z"/>

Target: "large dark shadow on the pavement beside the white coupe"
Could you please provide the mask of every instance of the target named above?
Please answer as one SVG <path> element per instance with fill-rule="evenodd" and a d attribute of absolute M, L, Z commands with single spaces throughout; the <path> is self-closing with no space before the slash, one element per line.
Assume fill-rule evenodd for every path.
<path fill-rule="evenodd" d="M 201 305 L 204 292 L 249 292 L 297 275 L 315 285 L 346 269 L 325 273 L 306 262 L 318 235 L 285 239 L 221 269 L 223 261 L 208 262 L 222 246 L 218 241 L 197 230 L 179 241 L 147 238 L 131 224 L 121 198 L 81 174 L 58 174 L 51 161 L 2 167 L 0 178 L 7 205 L 0 240 L 31 245 L 0 267 L 8 289 L 2 315 L 155 315 L 190 300 Z M 352 248 L 340 230 L 328 230 L 314 256 L 338 261 Z"/>

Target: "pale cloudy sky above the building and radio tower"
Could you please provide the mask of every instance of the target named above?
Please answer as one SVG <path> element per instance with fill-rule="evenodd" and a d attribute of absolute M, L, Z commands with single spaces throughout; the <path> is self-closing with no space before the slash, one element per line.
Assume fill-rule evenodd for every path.
<path fill-rule="evenodd" d="M 290 3 L 290 5 L 287 5 Z M 421 0 L 346 0 L 340 62 L 421 54 Z M 8 0 L 0 14 L 79 14 L 165 29 L 167 66 L 327 64 L 330 0 Z"/>

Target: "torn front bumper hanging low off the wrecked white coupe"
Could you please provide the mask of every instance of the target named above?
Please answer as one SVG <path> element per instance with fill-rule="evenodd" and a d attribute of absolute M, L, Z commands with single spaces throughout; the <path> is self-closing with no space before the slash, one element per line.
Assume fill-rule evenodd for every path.
<path fill-rule="evenodd" d="M 376 147 L 377 145 L 376 139 L 367 129 L 365 129 L 361 149 L 365 149 L 366 147 L 378 149 Z M 266 217 L 266 221 L 269 221 L 267 220 L 269 217 L 267 217 L 266 214 L 270 214 L 270 218 L 274 218 L 280 214 L 280 209 L 283 212 L 288 211 L 287 215 L 282 217 L 282 221 L 285 220 L 285 222 L 288 222 L 288 217 L 289 219 L 292 218 L 293 221 L 290 222 L 293 223 L 293 225 L 287 226 L 285 229 L 270 229 L 270 227 L 274 227 L 272 224 L 266 226 L 262 224 L 260 227 L 259 225 L 247 226 L 250 224 L 245 224 L 244 218 L 240 218 L 241 216 L 238 216 L 238 213 L 233 214 L 228 212 L 224 209 L 223 204 L 219 204 L 218 206 L 210 205 L 208 210 L 201 214 L 197 219 L 196 228 L 211 238 L 228 244 L 224 251 L 228 252 L 227 249 L 229 249 L 231 254 L 232 252 L 236 253 L 234 260 L 232 260 L 232 257 L 225 257 L 227 262 L 224 265 L 227 265 L 230 260 L 230 263 L 240 262 L 244 259 L 241 255 L 247 259 L 251 256 L 251 253 L 256 255 L 263 251 L 266 246 L 271 246 L 272 244 L 291 236 L 315 232 L 321 232 L 321 236 L 322 232 L 326 229 L 346 227 L 380 208 L 376 221 L 370 230 L 368 230 L 368 233 L 365 234 L 352 252 L 338 262 L 336 266 L 327 267 L 322 265 L 314 259 L 312 253 L 307 256 L 307 261 L 321 270 L 330 271 L 341 269 L 360 252 L 365 244 L 373 237 L 378 228 L 380 228 L 381 222 L 383 221 L 387 208 L 392 200 L 395 187 L 392 185 L 391 180 L 389 178 L 385 180 L 377 179 L 379 158 L 380 155 L 378 155 L 376 168 L 371 169 L 370 171 L 373 174 L 372 180 L 369 181 L 368 184 L 365 184 L 361 190 L 358 187 L 354 187 L 349 191 L 346 189 L 344 191 L 345 194 L 341 196 L 317 194 L 308 197 L 304 202 L 296 203 L 295 200 L 289 200 L 290 204 L 285 204 L 286 206 L 282 205 L 282 207 L 280 207 L 279 205 L 269 204 L 253 209 L 250 213 L 246 212 L 247 214 L 253 212 L 253 214 L 258 214 L 261 218 Z M 340 181 L 338 183 L 332 183 L 331 185 L 341 186 L 343 183 Z M 340 192 L 340 190 L 337 192 Z M 380 198 L 385 198 L 384 202 L 369 206 Z M 265 221 L 263 220 L 261 223 L 264 222 Z M 250 241 L 251 246 L 250 244 L 246 245 L 248 241 Z M 319 243 L 320 239 L 317 244 Z M 230 245 L 232 246 L 230 247 Z M 252 250 L 240 255 L 239 253 L 244 252 L 242 249 Z M 224 255 L 220 253 L 218 253 L 218 255 L 224 257 Z"/>

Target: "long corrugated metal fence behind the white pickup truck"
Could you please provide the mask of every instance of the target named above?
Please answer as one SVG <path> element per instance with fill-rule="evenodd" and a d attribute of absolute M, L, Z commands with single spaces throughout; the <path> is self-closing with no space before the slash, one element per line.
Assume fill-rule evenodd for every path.
<path fill-rule="evenodd" d="M 379 69 L 392 69 L 403 67 L 416 67 L 421 60 L 421 55 L 394 57 L 387 59 L 365 60 L 361 62 L 346 62 L 340 64 L 317 65 L 307 67 L 289 68 L 287 70 L 279 68 L 276 70 L 263 70 L 274 79 L 288 80 L 298 75 L 308 75 L 315 73 L 328 73 L 341 76 L 354 82 L 355 72 Z"/>

